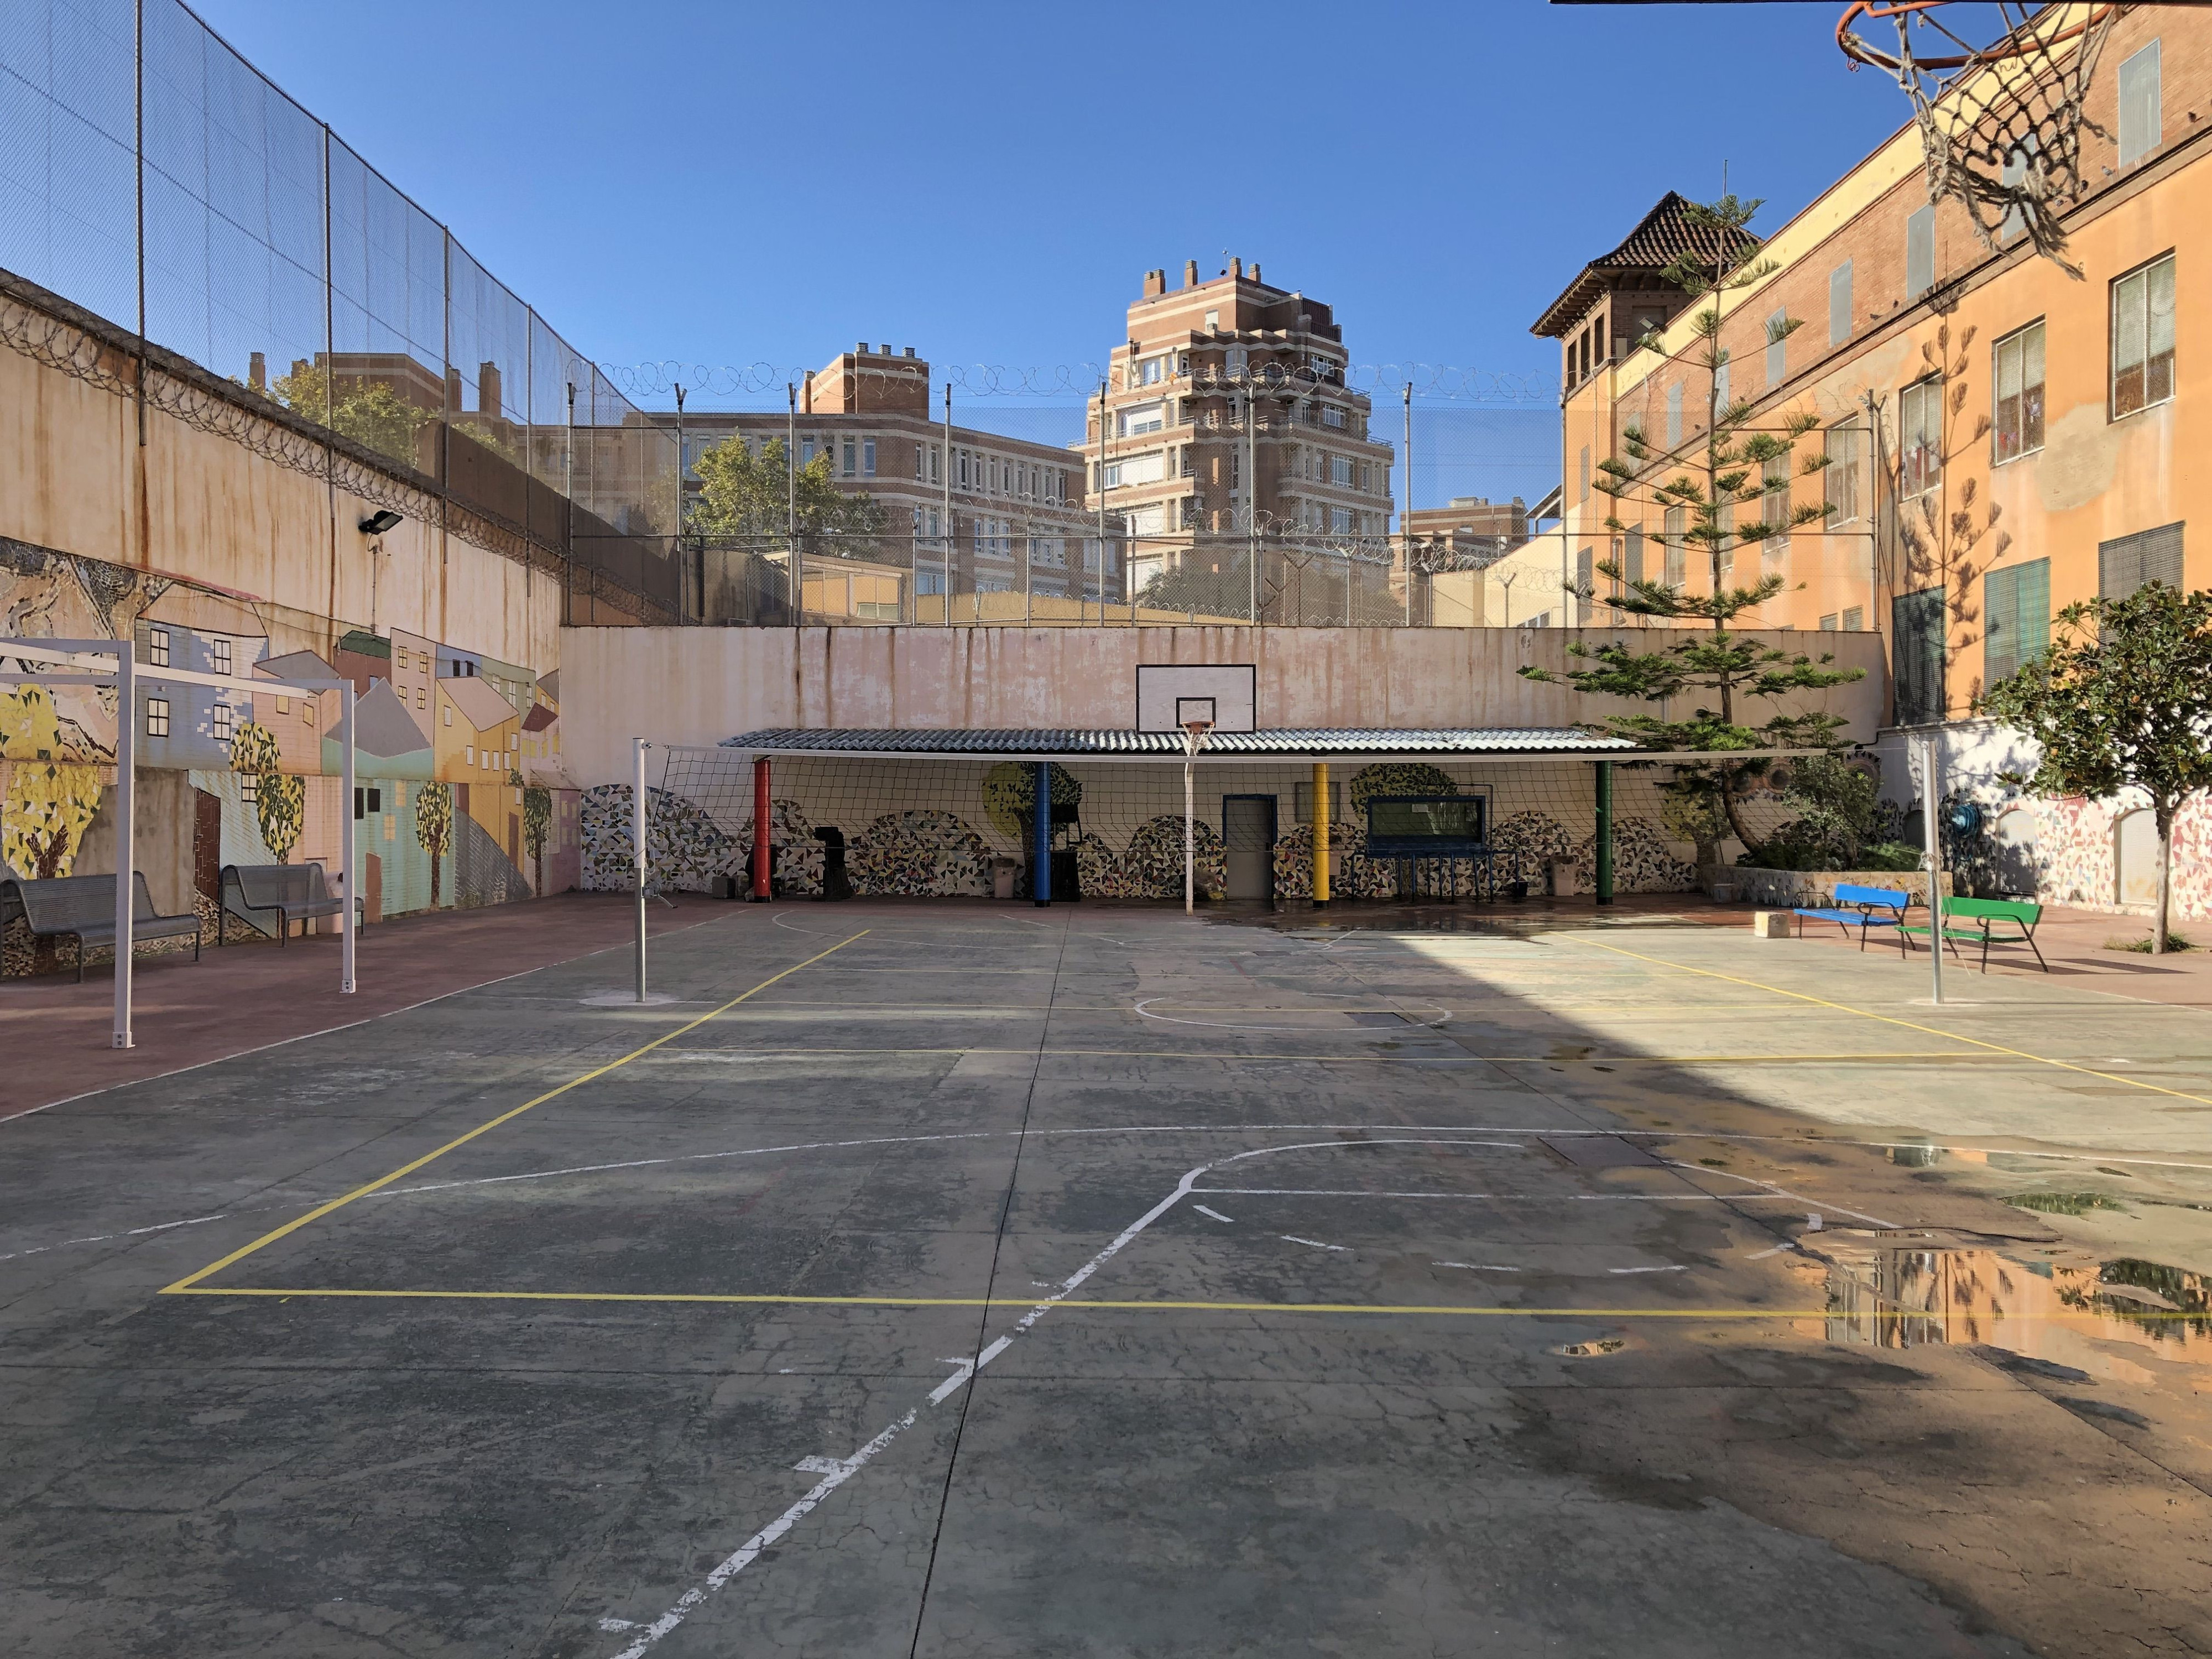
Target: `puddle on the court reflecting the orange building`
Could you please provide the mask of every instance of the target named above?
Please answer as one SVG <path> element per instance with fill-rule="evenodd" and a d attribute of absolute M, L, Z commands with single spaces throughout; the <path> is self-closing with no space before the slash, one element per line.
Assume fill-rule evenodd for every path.
<path fill-rule="evenodd" d="M 2130 1383 L 2130 1358 L 2212 1360 L 2212 1276 L 2070 1248 L 2000 1252 L 1933 1232 L 1832 1232 L 1827 1340 L 1989 1345 Z"/>

